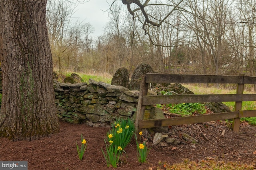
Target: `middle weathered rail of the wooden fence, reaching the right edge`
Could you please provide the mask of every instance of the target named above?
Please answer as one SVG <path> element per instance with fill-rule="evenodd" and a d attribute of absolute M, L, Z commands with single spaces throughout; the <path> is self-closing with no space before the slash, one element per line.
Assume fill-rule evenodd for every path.
<path fill-rule="evenodd" d="M 150 95 L 143 96 L 142 105 L 242 101 L 256 101 L 256 94 Z"/>

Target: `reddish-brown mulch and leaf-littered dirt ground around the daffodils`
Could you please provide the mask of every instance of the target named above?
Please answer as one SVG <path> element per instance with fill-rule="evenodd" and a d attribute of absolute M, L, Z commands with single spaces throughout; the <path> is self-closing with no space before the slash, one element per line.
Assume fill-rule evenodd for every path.
<path fill-rule="evenodd" d="M 147 162 L 140 164 L 137 159 L 135 139 L 124 149 L 118 168 L 107 168 L 101 148 L 105 150 L 104 138 L 107 127 L 90 127 L 85 124 L 74 125 L 60 122 L 60 133 L 37 141 L 12 142 L 0 138 L 0 160 L 27 160 L 28 170 L 156 170 L 158 161 L 174 164 L 184 159 L 236 161 L 240 164 L 254 165 L 256 168 L 256 126 L 241 123 L 240 132 L 230 130 L 225 121 L 198 123 L 170 127 L 172 137 L 181 141 L 168 147 L 152 146 Z M 221 133 L 225 130 L 225 134 Z M 78 158 L 76 141 L 81 133 L 88 142 L 84 157 Z M 182 139 L 187 133 L 198 139 L 198 143 L 188 143 Z M 163 167 L 159 167 L 164 169 Z"/>

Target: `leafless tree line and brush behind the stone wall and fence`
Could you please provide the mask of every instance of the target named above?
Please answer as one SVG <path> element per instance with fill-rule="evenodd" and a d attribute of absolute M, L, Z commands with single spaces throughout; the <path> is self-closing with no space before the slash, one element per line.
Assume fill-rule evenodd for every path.
<path fill-rule="evenodd" d="M 130 10 L 110 4 L 104 33 L 93 37 L 90 23 L 71 21 L 74 5 L 49 0 L 54 68 L 113 75 L 144 62 L 161 73 L 255 76 L 255 0 L 128 2 Z"/>

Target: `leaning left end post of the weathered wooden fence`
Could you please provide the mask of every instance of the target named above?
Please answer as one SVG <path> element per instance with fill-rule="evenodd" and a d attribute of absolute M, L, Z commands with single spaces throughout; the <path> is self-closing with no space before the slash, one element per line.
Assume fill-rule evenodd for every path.
<path fill-rule="evenodd" d="M 145 106 L 142 105 L 142 99 L 143 99 L 143 96 L 148 94 L 148 83 L 146 83 L 145 80 L 146 80 L 146 75 L 143 75 L 140 83 L 140 95 L 139 95 L 137 114 L 135 119 L 136 135 L 138 135 L 138 132 L 139 132 L 139 121 L 143 120 L 144 118 Z"/>

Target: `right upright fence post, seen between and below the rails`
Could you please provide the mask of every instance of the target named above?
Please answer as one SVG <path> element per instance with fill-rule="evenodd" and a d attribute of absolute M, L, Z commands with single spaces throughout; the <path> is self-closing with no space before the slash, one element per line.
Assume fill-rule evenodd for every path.
<path fill-rule="evenodd" d="M 244 84 L 237 84 L 236 87 L 236 94 L 243 94 L 244 93 Z M 239 111 L 242 109 L 242 102 L 235 102 L 234 111 Z M 238 132 L 240 127 L 240 118 L 233 119 L 232 129 L 234 132 Z"/>

